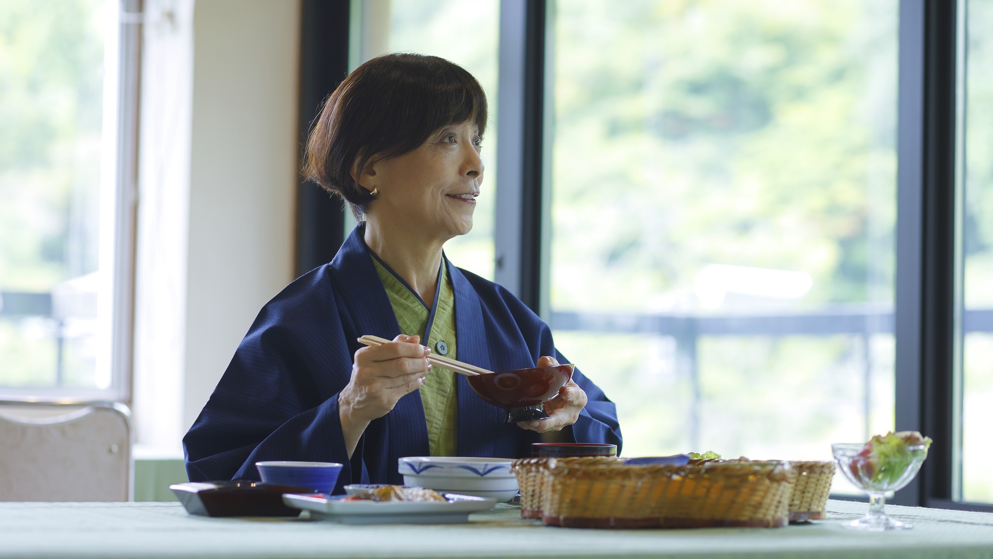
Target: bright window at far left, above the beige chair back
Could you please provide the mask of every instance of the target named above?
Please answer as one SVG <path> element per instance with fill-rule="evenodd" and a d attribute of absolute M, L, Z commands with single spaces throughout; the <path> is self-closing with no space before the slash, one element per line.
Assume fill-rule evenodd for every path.
<path fill-rule="evenodd" d="M 126 396 L 118 342 L 127 339 L 119 317 L 127 315 L 121 225 L 129 205 L 121 194 L 133 167 L 120 153 L 133 138 L 121 119 L 133 99 L 118 78 L 134 78 L 137 36 L 118 23 L 119 7 L 0 2 L 5 396 Z"/>

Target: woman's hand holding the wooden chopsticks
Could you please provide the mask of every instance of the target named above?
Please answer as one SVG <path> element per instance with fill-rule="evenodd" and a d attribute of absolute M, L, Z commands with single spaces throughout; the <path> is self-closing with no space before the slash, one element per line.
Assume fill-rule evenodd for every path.
<path fill-rule="evenodd" d="M 396 402 L 417 390 L 431 370 L 420 336 L 400 334 L 390 343 L 355 351 L 352 380 L 338 395 L 338 414 L 349 458 L 369 422 L 388 414 Z"/>

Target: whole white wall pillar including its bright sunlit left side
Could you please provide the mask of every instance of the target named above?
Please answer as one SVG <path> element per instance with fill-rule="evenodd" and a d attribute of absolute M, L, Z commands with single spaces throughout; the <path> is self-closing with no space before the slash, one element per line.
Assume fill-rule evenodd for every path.
<path fill-rule="evenodd" d="M 178 449 L 259 308 L 293 280 L 300 2 L 148 8 L 162 3 L 191 8 L 192 25 L 177 18 L 172 59 L 142 72 L 142 153 L 159 148 L 140 162 L 134 413 L 139 443 Z M 163 104 L 159 89 L 188 101 Z"/>

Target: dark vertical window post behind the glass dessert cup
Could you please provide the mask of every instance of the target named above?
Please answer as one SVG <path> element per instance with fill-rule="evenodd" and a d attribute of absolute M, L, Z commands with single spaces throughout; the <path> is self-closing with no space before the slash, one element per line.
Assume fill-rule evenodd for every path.
<path fill-rule="evenodd" d="M 896 427 L 934 440 L 900 504 L 951 495 L 955 3 L 900 8 Z"/>

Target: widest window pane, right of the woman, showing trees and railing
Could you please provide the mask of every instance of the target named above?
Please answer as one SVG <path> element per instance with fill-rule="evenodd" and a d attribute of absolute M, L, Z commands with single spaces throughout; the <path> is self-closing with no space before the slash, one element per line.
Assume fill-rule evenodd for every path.
<path fill-rule="evenodd" d="M 552 17 L 550 321 L 625 454 L 893 429 L 896 0 Z"/>

